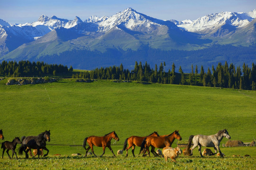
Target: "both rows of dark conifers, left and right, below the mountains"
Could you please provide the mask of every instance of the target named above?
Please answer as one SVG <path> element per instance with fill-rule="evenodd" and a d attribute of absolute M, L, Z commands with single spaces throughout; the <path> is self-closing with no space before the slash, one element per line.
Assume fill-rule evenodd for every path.
<path fill-rule="evenodd" d="M 73 71 L 72 66 L 68 69 L 67 66 L 57 64 L 47 64 L 43 61 L 2 61 L 0 63 L 0 75 L 10 77 L 21 76 L 42 76 L 56 75 L 58 73 L 67 73 Z M 73 74 L 73 78 L 90 78 L 90 79 L 111 79 L 111 80 L 130 80 L 141 82 L 152 82 L 161 84 L 180 84 L 180 85 L 200 85 L 212 87 L 224 87 L 233 89 L 256 90 L 256 65 L 252 63 L 251 68 L 245 63 L 242 68 L 227 61 L 224 65 L 218 64 L 216 68 L 208 68 L 207 71 L 201 66 L 200 72 L 197 65 L 195 68 L 192 65 L 190 73 L 183 73 L 181 66 L 179 72 L 175 72 L 173 63 L 172 69 L 165 71 L 165 62 L 161 63 L 159 68 L 155 64 L 155 69 L 151 68 L 147 62 L 142 65 L 137 61 L 133 70 L 128 70 L 121 64 L 107 68 L 96 68 L 91 71 L 80 72 Z"/>

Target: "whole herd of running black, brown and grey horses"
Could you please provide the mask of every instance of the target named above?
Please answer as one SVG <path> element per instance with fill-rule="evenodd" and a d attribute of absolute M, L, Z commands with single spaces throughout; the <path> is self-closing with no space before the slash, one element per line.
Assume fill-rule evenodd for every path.
<path fill-rule="evenodd" d="M 21 146 L 18 148 L 19 154 L 22 154 L 23 152 L 25 152 L 26 154 L 25 158 L 27 159 L 28 158 L 27 153 L 28 152 L 31 153 L 31 149 L 37 149 L 37 155 L 39 159 L 40 150 L 43 149 L 47 151 L 44 157 L 47 156 L 49 153 L 49 150 L 46 148 L 46 141 L 50 142 L 50 135 L 51 135 L 50 130 L 49 131 L 46 130 L 45 132 L 42 132 L 38 136 L 27 136 L 27 137 L 23 136 L 21 140 L 19 139 L 19 137 L 15 137 L 15 139 L 12 142 L 9 142 L 9 141 L 3 142 L 1 148 L 3 148 L 3 154 L 7 149 L 6 152 L 9 158 L 10 158 L 10 155 L 8 152 L 9 150 L 12 150 L 13 152 L 12 158 L 15 153 L 16 158 L 18 159 L 15 149 L 17 144 L 21 144 Z M 206 146 L 206 147 L 213 147 L 215 150 L 214 154 L 216 154 L 218 151 L 220 155 L 223 157 L 223 154 L 219 149 L 219 144 L 220 144 L 220 141 L 223 139 L 223 137 L 226 137 L 228 139 L 231 138 L 229 136 L 229 132 L 227 129 L 219 130 L 217 134 L 210 135 L 210 136 L 206 136 L 206 135 L 193 136 L 192 135 L 189 137 L 188 145 L 183 150 L 183 153 L 185 155 L 192 155 L 193 149 L 198 146 L 199 153 L 201 157 L 203 157 L 203 155 L 201 154 L 201 146 Z M 0 138 L 2 140 L 4 139 L 2 130 L 0 130 Z M 114 154 L 110 146 L 112 138 L 115 139 L 116 141 L 119 141 L 119 137 L 115 131 L 110 132 L 104 136 L 86 137 L 82 145 L 82 147 L 86 150 L 85 156 L 87 156 L 88 151 L 91 149 L 91 152 L 94 154 L 95 157 L 97 157 L 97 155 L 93 151 L 93 146 L 97 146 L 97 147 L 102 147 L 103 149 L 103 153 L 101 154 L 101 157 L 105 153 L 106 147 L 108 147 L 110 151 L 113 153 L 113 155 L 116 157 L 116 155 Z M 138 146 L 138 147 L 141 147 L 140 153 L 143 153 L 143 156 L 146 156 L 146 152 L 150 156 L 149 147 L 151 146 L 151 153 L 154 156 L 158 156 L 158 154 L 155 152 L 155 148 L 171 147 L 175 139 L 182 140 L 182 137 L 179 134 L 179 130 L 175 130 L 173 133 L 169 135 L 163 135 L 163 136 L 159 136 L 157 132 L 153 132 L 148 136 L 130 136 L 125 140 L 122 150 L 123 151 L 126 150 L 126 156 L 128 156 L 128 150 L 132 147 L 132 154 L 135 157 L 135 154 L 134 154 L 135 146 Z M 192 148 L 190 148 L 192 142 L 194 145 Z M 88 143 L 89 145 L 88 148 L 86 148 L 86 143 Z"/>

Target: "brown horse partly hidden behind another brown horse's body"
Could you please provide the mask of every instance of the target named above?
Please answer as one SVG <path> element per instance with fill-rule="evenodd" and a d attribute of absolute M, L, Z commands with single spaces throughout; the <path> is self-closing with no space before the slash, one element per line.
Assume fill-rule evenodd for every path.
<path fill-rule="evenodd" d="M 159 136 L 157 132 L 153 132 L 152 134 L 148 135 L 148 136 Z M 143 139 L 147 137 L 141 137 L 141 136 L 130 136 L 125 140 L 124 143 L 124 147 L 123 147 L 123 151 L 126 150 L 126 156 L 128 156 L 128 149 L 130 149 L 132 147 L 132 154 L 134 155 L 134 150 L 135 150 L 135 146 L 141 146 Z M 127 144 L 129 144 L 129 146 L 127 147 Z"/>

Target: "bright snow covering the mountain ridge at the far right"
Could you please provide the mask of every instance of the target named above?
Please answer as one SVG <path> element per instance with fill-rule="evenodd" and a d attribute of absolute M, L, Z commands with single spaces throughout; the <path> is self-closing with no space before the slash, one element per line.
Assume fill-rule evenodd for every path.
<path fill-rule="evenodd" d="M 204 30 L 209 31 L 223 25 L 242 27 L 246 26 L 254 19 L 254 14 L 256 14 L 256 10 L 249 13 L 220 12 L 206 15 L 192 21 L 192 23 L 178 26 L 190 32 L 201 32 Z"/>

